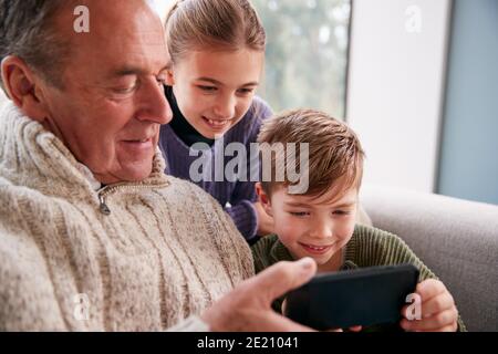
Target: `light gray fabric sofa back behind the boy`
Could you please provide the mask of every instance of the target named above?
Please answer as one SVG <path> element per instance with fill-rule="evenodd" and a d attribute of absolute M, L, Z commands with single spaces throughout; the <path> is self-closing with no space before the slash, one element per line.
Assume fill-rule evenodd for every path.
<path fill-rule="evenodd" d="M 446 284 L 469 331 L 498 332 L 498 206 L 370 185 L 361 198 Z"/>

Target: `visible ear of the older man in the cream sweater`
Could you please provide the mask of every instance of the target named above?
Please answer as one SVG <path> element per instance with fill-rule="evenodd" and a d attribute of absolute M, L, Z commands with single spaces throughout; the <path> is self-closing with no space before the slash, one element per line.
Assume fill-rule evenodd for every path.
<path fill-rule="evenodd" d="M 12 102 L 30 118 L 43 122 L 48 112 L 35 74 L 18 56 L 6 56 L 1 62 L 2 82 Z"/>

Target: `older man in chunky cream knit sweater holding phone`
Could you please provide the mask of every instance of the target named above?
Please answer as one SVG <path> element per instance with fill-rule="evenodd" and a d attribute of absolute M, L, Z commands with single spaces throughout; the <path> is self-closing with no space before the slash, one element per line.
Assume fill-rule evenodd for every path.
<path fill-rule="evenodd" d="M 163 174 L 167 53 L 145 1 L 0 0 L 0 330 L 305 330 L 270 303 L 314 263 L 251 278 L 218 204 Z"/>

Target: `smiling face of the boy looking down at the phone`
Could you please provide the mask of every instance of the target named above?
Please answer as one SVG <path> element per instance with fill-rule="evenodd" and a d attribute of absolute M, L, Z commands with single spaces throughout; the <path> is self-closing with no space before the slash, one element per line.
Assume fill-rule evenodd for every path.
<path fill-rule="evenodd" d="M 289 195 L 277 187 L 271 197 L 257 186 L 264 210 L 273 217 L 274 232 L 295 259 L 311 257 L 319 270 L 340 262 L 339 252 L 354 231 L 357 188 L 332 188 L 317 198 Z"/>

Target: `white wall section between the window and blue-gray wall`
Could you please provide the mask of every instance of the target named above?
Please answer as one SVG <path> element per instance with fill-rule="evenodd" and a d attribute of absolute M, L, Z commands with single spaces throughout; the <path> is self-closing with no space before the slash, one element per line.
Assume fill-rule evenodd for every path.
<path fill-rule="evenodd" d="M 450 0 L 355 0 L 347 122 L 365 183 L 433 191 Z"/>

